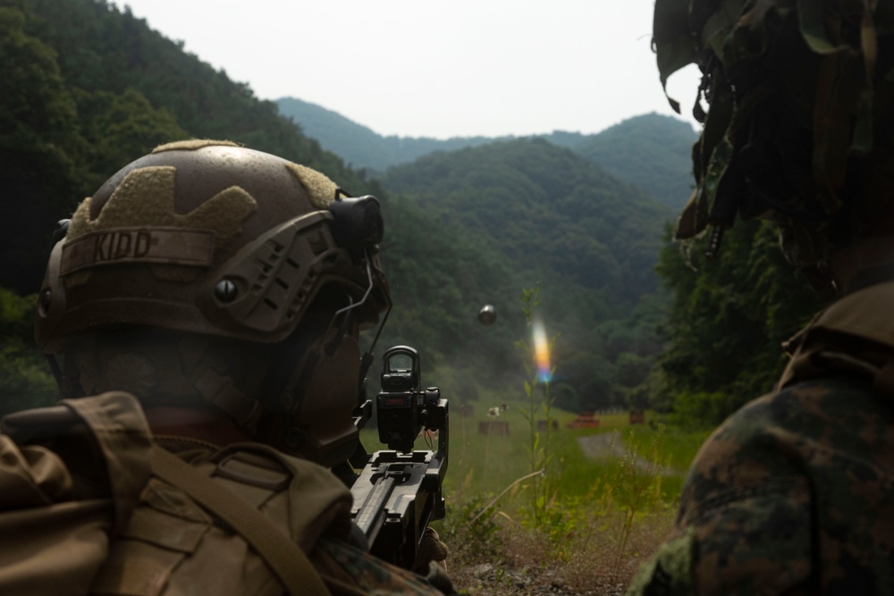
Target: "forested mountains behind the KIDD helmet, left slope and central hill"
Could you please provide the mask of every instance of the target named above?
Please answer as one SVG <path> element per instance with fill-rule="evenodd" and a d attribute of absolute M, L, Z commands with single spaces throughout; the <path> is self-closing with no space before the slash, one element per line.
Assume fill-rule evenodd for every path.
<path fill-rule="evenodd" d="M 433 158 L 415 171 L 407 166 L 389 178 L 400 190 L 386 191 L 274 104 L 102 0 L 0 0 L 0 63 L 4 409 L 51 392 L 30 348 L 34 298 L 16 294 L 38 290 L 55 222 L 123 164 L 189 137 L 236 140 L 315 167 L 354 194 L 381 197 L 395 308 L 379 346 L 416 346 L 426 378 L 457 397 L 472 398 L 479 388 L 519 392 L 514 342 L 527 331 L 518 298 L 541 280 L 548 329 L 567 338 L 558 344 L 564 385 L 556 386 L 567 407 L 618 398 L 611 393 L 615 361 L 657 349 L 660 301 L 636 305 L 655 286 L 655 225 L 666 214 L 567 150 L 529 140 L 481 147 L 481 154 L 460 152 L 452 165 Z M 437 208 L 433 189 L 446 199 Z M 624 207 L 630 197 L 645 206 Z M 609 203 L 599 205 L 603 199 Z M 451 208 L 463 222 L 450 221 Z M 623 222 L 625 214 L 645 227 Z M 472 226 L 473 219 L 486 225 Z M 627 240 L 626 250 L 617 244 Z M 475 317 L 487 302 L 498 306 L 491 327 Z M 583 340 L 586 348 L 572 348 Z"/>

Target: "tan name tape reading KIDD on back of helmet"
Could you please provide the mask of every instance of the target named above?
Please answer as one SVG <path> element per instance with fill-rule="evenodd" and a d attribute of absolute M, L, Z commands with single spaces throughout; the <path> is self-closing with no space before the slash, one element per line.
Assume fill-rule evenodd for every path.
<path fill-rule="evenodd" d="M 181 264 L 207 267 L 215 252 L 215 233 L 182 228 L 114 228 L 94 231 L 62 248 L 59 274 L 96 265 Z"/>

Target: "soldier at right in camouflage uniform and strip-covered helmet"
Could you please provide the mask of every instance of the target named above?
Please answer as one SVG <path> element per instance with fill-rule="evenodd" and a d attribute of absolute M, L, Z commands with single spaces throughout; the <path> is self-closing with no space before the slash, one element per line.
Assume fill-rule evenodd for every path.
<path fill-rule="evenodd" d="M 630 593 L 894 592 L 894 10 L 871 0 L 657 0 L 662 83 L 709 105 L 677 236 L 738 217 L 835 301 L 777 389 L 705 442 L 676 535 Z"/>

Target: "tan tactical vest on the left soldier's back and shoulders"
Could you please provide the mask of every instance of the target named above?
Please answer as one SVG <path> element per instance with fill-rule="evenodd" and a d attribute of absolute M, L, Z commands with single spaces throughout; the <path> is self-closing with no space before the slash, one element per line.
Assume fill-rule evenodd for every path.
<path fill-rule="evenodd" d="M 272 548 L 290 559 L 296 543 L 307 553 L 320 538 L 350 530 L 350 492 L 321 466 L 255 443 L 215 451 L 163 441 L 190 462 L 172 457 L 187 476 L 204 478 L 198 486 L 210 487 L 209 499 L 223 495 L 236 513 L 200 507 L 201 494 L 153 470 L 159 447 L 126 393 L 7 416 L 4 432 L 11 436 L 0 435 L 0 593 L 283 594 L 266 557 L 232 530 L 246 524 L 221 517 L 248 515 L 248 504 L 262 514 L 249 515 L 249 532 L 259 527 L 261 542 L 282 533 L 274 538 L 289 544 Z M 310 575 L 303 590 L 289 592 L 329 593 Z"/>

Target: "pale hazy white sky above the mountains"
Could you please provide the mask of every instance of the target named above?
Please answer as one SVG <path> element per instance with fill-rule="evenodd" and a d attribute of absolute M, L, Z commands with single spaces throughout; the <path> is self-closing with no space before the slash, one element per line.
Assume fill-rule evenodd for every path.
<path fill-rule="evenodd" d="M 299 97 L 383 135 L 593 133 L 673 114 L 653 0 L 114 0 L 257 97 Z M 691 68 L 691 67 L 690 67 Z M 696 72 L 671 79 L 690 108 Z"/>

